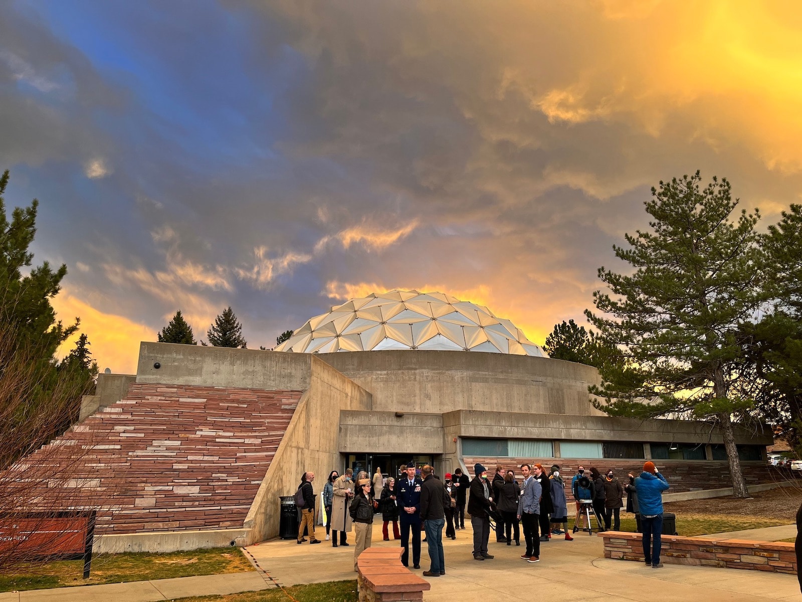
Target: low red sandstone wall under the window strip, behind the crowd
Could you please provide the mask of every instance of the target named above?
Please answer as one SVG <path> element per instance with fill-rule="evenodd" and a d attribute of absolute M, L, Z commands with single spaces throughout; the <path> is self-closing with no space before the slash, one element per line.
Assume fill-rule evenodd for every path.
<path fill-rule="evenodd" d="M 553 464 L 560 466 L 560 474 L 565 478 L 565 493 L 570 496 L 571 479 L 577 474 L 577 466 L 585 466 L 585 474 L 590 474 L 590 467 L 595 466 L 600 473 L 612 468 L 618 479 L 626 484 L 626 474 L 631 472 L 635 476 L 641 474 L 644 460 L 577 460 L 575 458 L 464 458 L 469 476 L 473 477 L 473 465 L 477 462 L 488 469 L 488 474 L 496 472 L 496 466 L 515 470 L 520 479 L 520 469 L 523 463 L 531 465 L 541 464 L 546 470 Z M 666 477 L 671 488 L 667 493 L 678 493 L 699 489 L 719 489 L 731 487 L 730 471 L 727 462 L 702 462 L 699 460 L 655 460 L 658 470 Z M 798 470 L 789 470 L 769 466 L 764 462 L 741 462 L 743 474 L 747 485 L 759 483 L 772 483 L 800 478 Z"/>

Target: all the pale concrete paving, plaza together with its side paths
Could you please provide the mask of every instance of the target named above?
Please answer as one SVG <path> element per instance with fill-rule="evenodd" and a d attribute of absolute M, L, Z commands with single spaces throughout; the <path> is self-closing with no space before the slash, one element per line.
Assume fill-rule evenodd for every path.
<path fill-rule="evenodd" d="M 794 532 L 787 534 L 789 527 Z M 769 530 L 770 531 L 767 533 Z M 796 526 L 768 527 L 753 531 L 710 535 L 721 538 L 773 540 L 796 535 Z M 523 545 L 495 543 L 490 553 L 496 558 L 476 562 L 472 557 L 472 531 L 456 532 L 457 539 L 444 540 L 446 575 L 431 579 L 427 602 L 507 602 L 545 597 L 549 602 L 768 602 L 802 600 L 796 576 L 729 568 L 690 567 L 666 564 L 653 569 L 642 563 L 604 558 L 602 538 L 577 534 L 573 542 L 561 535 L 541 543 L 541 562 L 520 559 Z M 353 539 L 351 537 L 350 539 Z M 374 525 L 373 545 L 397 547 L 399 542 L 381 540 L 381 523 Z M 523 543 L 523 541 L 521 542 Z M 181 577 L 128 584 L 88 585 L 75 588 L 0 593 L 0 602 L 156 602 L 186 596 L 209 596 L 273 588 L 282 585 L 323 583 L 355 579 L 354 547 L 331 547 L 330 541 L 317 546 L 299 546 L 294 539 L 273 539 L 250 546 L 247 551 L 266 576 L 257 571 Z M 427 546 L 422 544 L 420 574 L 429 567 Z M 545 589 L 544 589 L 545 588 Z"/>

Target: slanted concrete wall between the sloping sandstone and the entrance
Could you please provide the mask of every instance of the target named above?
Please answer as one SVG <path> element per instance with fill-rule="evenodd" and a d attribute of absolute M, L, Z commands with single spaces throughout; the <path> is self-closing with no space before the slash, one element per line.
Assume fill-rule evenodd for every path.
<path fill-rule="evenodd" d="M 278 352 L 274 355 L 296 354 Z M 305 357 L 310 362 L 309 388 L 295 410 L 245 518 L 244 527 L 250 530 L 247 544 L 278 535 L 278 498 L 293 495 L 304 472 L 314 472 L 313 489 L 319 494 L 330 471 L 342 466 L 338 451 L 340 409 L 371 409 L 371 394 L 365 389 L 317 357 Z"/>

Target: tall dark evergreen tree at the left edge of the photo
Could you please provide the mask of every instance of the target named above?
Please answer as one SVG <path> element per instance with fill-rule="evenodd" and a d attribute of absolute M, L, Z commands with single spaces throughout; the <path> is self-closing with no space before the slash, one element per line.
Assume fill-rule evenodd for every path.
<path fill-rule="evenodd" d="M 55 352 L 78 329 L 55 319 L 51 299 L 59 293 L 67 266 L 51 269 L 33 262 L 38 201 L 6 216 L 3 194 L 8 171 L 0 177 L 0 470 L 59 436 L 78 418 L 83 395 L 95 388 L 87 368 L 86 336 L 60 364 Z"/>

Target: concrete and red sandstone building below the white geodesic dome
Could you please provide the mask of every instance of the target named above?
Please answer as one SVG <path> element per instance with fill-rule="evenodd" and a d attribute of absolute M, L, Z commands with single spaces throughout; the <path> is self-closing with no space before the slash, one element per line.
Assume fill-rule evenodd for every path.
<path fill-rule="evenodd" d="M 278 497 L 294 494 L 308 470 L 316 493 L 332 469 L 380 466 L 395 476 L 410 460 L 437 474 L 541 462 L 568 475 L 582 463 L 624 476 L 653 459 L 672 491 L 729 484 L 722 438 L 709 425 L 608 417 L 589 402 L 594 368 L 515 349 L 288 353 L 143 343 L 136 375 L 100 375 L 83 420 L 52 445 L 87 449 L 71 486 L 101 510 L 99 551 L 271 538 Z M 737 429 L 736 441 L 747 482 L 784 478 L 765 461 L 768 429 Z"/>

